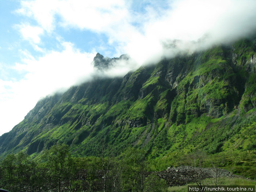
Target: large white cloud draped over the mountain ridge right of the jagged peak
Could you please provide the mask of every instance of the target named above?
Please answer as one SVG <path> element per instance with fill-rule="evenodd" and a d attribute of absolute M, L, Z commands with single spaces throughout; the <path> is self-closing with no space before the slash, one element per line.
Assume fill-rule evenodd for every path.
<path fill-rule="evenodd" d="M 157 18 L 142 23 L 144 33 L 125 44 L 136 61 L 158 61 L 182 51 L 193 52 L 255 33 L 256 1 L 252 0 L 182 0 L 173 1 Z M 176 41 L 176 48 L 166 49 L 163 42 Z M 178 44 L 177 44 L 178 43 Z"/>

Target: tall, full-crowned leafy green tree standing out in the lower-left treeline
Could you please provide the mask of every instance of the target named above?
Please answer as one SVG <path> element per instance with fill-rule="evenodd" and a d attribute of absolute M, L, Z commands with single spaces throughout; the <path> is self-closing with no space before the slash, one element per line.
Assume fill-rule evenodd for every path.
<path fill-rule="evenodd" d="M 58 184 L 58 191 L 62 191 L 62 182 L 69 182 L 71 190 L 72 170 L 74 161 L 69 153 L 69 147 L 66 144 L 57 144 L 52 146 L 43 155 L 46 165 L 49 168 L 49 174 L 53 181 Z"/>

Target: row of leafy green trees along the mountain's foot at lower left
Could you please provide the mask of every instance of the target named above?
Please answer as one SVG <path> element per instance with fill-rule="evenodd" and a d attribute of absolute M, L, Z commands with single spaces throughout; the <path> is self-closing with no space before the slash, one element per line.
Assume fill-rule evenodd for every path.
<path fill-rule="evenodd" d="M 103 144 L 97 150 L 97 157 L 74 158 L 67 145 L 58 144 L 38 161 L 24 152 L 9 154 L 0 162 L 0 188 L 11 192 L 167 191 L 165 180 L 147 172 L 143 150 L 129 148 L 118 158 Z"/>

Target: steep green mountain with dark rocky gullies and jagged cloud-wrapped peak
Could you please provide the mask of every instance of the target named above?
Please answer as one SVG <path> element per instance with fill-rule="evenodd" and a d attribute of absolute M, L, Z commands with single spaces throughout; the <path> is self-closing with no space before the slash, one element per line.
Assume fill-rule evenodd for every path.
<path fill-rule="evenodd" d="M 0 137 L 0 155 L 39 155 L 56 143 L 94 155 L 101 141 L 115 154 L 137 146 L 152 158 L 255 148 L 255 51 L 255 39 L 244 39 L 46 97 Z M 97 53 L 93 62 L 104 70 L 114 59 Z"/>

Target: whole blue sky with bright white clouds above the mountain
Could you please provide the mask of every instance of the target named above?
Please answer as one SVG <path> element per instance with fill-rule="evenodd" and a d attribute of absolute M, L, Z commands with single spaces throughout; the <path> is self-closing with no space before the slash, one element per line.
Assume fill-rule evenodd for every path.
<path fill-rule="evenodd" d="M 38 99 L 90 80 L 97 52 L 129 54 L 103 74 L 122 76 L 254 34 L 255 10 L 255 0 L 0 0 L 0 135 Z"/>

